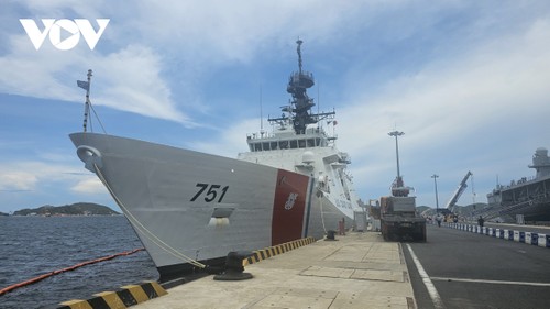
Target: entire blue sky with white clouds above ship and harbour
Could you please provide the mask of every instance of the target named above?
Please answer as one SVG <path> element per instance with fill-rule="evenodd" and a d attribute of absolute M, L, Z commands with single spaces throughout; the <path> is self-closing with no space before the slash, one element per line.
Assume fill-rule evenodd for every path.
<path fill-rule="evenodd" d="M 1 0 L 0 211 L 97 202 L 116 210 L 68 134 L 82 131 L 86 80 L 109 134 L 237 157 L 261 115 L 287 104 L 304 69 L 320 111 L 337 112 L 359 197 L 389 194 L 395 140 L 417 205 L 486 202 L 495 185 L 531 177 L 550 147 L 550 2 L 540 1 L 77 1 Z M 20 19 L 109 19 L 94 49 Z M 65 22 L 66 24 L 66 22 Z M 52 27 L 54 29 L 54 27 Z M 59 27 L 57 27 L 58 30 Z M 73 37 L 62 30 L 61 41 Z M 80 33 L 84 33 L 80 31 Z M 74 42 L 74 41 L 72 41 Z M 70 46 L 69 46 L 70 47 Z M 317 108 L 317 107 L 316 107 Z M 101 132 L 97 121 L 94 130 Z M 473 189 L 473 190 L 472 190 Z"/>

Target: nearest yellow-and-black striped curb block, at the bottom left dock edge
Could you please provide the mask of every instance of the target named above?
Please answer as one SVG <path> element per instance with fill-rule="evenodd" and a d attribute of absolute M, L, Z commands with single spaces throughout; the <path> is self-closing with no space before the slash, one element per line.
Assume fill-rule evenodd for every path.
<path fill-rule="evenodd" d="M 158 283 L 145 282 L 141 285 L 123 286 L 118 291 L 98 293 L 88 300 L 64 301 L 57 309 L 124 309 L 166 294 L 167 291 Z"/>

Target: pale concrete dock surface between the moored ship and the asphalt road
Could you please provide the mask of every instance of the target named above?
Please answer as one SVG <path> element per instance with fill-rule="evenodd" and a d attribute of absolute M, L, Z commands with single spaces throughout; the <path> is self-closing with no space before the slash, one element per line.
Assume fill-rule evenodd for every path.
<path fill-rule="evenodd" d="M 400 244 L 375 232 L 320 240 L 245 272 L 253 278 L 208 276 L 132 308 L 416 308 Z"/>

